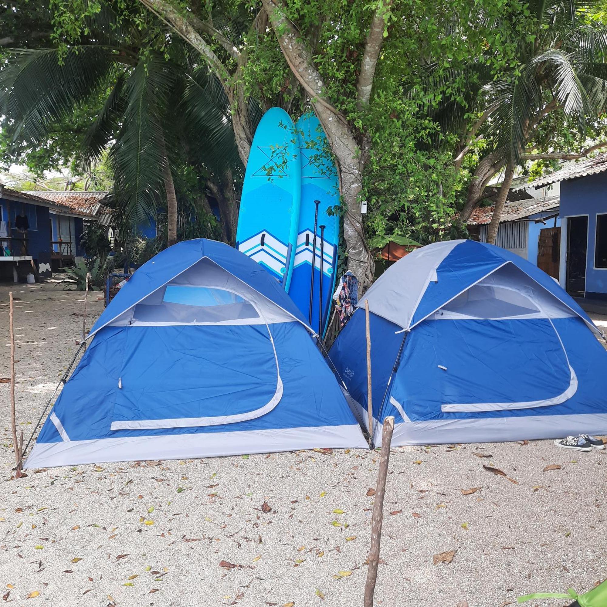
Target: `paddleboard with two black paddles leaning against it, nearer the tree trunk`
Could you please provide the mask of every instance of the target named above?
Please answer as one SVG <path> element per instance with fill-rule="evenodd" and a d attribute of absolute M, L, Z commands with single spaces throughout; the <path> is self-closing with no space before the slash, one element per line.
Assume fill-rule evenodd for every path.
<path fill-rule="evenodd" d="M 337 274 L 340 215 L 339 212 L 329 214 L 329 211 L 339 211 L 334 209 L 340 204 L 339 179 L 327 137 L 316 114 L 304 114 L 295 127 L 301 153 L 302 194 L 289 294 L 310 326 L 324 335 Z"/>

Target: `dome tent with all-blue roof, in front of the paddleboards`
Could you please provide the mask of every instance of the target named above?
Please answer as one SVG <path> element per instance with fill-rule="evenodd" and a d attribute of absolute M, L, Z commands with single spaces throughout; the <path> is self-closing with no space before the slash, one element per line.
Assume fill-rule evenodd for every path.
<path fill-rule="evenodd" d="M 93 325 L 25 467 L 367 448 L 312 334 L 243 253 L 171 246 Z"/>

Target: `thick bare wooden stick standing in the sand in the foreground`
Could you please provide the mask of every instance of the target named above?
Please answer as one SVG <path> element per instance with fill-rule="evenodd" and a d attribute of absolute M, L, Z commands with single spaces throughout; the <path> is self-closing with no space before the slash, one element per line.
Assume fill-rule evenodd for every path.
<path fill-rule="evenodd" d="M 381 438 L 378 484 L 375 487 L 375 503 L 373 504 L 373 518 L 371 519 L 371 548 L 369 549 L 369 568 L 367 569 L 367 583 L 365 583 L 364 607 L 373 607 L 373 594 L 378 577 L 379 545 L 381 544 L 381 527 L 384 521 L 385 479 L 388 474 L 393 430 L 394 418 L 392 416 L 385 418 Z"/>

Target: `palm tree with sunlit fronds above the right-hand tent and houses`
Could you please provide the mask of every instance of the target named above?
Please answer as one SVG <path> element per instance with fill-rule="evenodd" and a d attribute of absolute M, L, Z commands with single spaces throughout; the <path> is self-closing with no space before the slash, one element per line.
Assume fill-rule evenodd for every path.
<path fill-rule="evenodd" d="M 518 64 L 481 89 L 481 124 L 473 135 L 481 132 L 490 143 L 489 153 L 476 169 L 460 219 L 464 223 L 469 219 L 486 183 L 504 169 L 488 230 L 490 243 L 495 243 L 515 169 L 533 151 L 546 118 L 560 113 L 563 124 L 583 142 L 592 123 L 605 112 L 607 29 L 588 21 L 588 4 L 588 0 L 529 1 L 529 15 L 512 16 L 529 24 L 526 36 L 512 39 Z"/>

